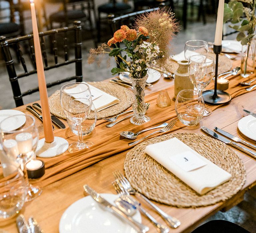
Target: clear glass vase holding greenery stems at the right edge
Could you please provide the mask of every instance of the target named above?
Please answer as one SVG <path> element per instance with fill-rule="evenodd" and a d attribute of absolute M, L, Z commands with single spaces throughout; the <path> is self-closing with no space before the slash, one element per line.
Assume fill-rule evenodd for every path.
<path fill-rule="evenodd" d="M 251 40 L 246 45 L 242 45 L 241 52 L 241 76 L 247 78 L 253 74 L 255 69 L 255 41 Z"/>

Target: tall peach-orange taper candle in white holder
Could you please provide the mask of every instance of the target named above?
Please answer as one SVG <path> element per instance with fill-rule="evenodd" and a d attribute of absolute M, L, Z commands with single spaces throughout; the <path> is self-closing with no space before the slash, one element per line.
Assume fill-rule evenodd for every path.
<path fill-rule="evenodd" d="M 35 4 L 33 0 L 30 0 L 30 7 L 31 7 L 38 87 L 39 87 L 39 94 L 40 94 L 40 100 L 42 105 L 44 137 L 46 142 L 51 143 L 54 141 L 54 135 L 53 135 L 52 120 L 51 120 L 50 108 L 48 103 L 48 94 L 47 94 L 46 82 L 45 82 L 45 76 L 44 76 L 42 52 L 41 52 L 39 34 L 37 29 Z"/>

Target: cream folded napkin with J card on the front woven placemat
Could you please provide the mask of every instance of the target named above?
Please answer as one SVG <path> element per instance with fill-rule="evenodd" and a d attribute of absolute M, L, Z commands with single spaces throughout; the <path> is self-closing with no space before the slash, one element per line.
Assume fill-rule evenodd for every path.
<path fill-rule="evenodd" d="M 198 154 L 176 137 L 146 146 L 145 153 L 200 195 L 231 178 L 230 173 Z"/>

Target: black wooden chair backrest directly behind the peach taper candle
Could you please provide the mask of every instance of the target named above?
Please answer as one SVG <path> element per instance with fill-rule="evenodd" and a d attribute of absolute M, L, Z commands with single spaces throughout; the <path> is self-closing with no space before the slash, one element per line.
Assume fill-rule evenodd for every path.
<path fill-rule="evenodd" d="M 71 63 L 75 63 L 75 76 L 68 77 L 61 80 L 56 80 L 51 83 L 47 83 L 47 88 L 68 82 L 71 80 L 76 80 L 76 82 L 82 82 L 82 41 L 81 41 L 81 22 L 75 21 L 74 26 L 65 27 L 60 29 L 54 29 L 46 32 L 40 32 L 40 43 L 42 50 L 42 57 L 44 62 L 44 70 L 50 70 L 57 67 L 62 67 Z M 71 44 L 68 41 L 68 35 L 71 34 L 70 39 L 74 40 L 74 57 L 69 59 L 69 45 Z M 61 44 L 60 38 L 63 38 L 63 49 L 59 49 Z M 48 40 L 47 40 L 48 39 Z M 57 43 L 58 40 L 58 43 Z M 22 46 L 23 45 L 23 46 Z M 22 37 L 17 37 L 14 39 L 6 40 L 5 37 L 0 37 L 0 46 L 2 47 L 2 52 L 9 75 L 9 80 L 12 87 L 13 97 L 15 100 L 16 106 L 23 105 L 22 97 L 37 92 L 38 87 L 21 92 L 19 79 L 23 77 L 30 76 L 37 73 L 36 71 L 36 61 L 35 61 L 35 51 L 33 43 L 33 35 L 26 35 Z M 18 59 L 22 65 L 22 72 L 16 74 L 14 61 L 12 59 L 10 48 L 13 48 L 18 55 Z M 51 54 L 48 53 L 48 50 L 51 51 Z M 24 53 L 25 52 L 25 53 Z M 26 54 L 27 52 L 27 54 Z M 58 53 L 63 53 L 63 56 L 58 56 Z M 49 64 L 48 57 L 53 57 L 53 64 Z M 59 59 L 58 59 L 59 58 Z M 29 65 L 26 63 L 26 60 L 29 60 L 32 63 L 32 68 L 29 70 Z M 62 60 L 61 62 L 59 62 Z M 31 67 L 31 66 L 30 66 Z"/>

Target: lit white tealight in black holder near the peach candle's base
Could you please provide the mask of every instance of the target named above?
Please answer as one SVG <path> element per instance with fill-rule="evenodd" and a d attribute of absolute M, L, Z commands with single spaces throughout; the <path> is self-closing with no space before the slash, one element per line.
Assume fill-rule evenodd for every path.
<path fill-rule="evenodd" d="M 44 161 L 39 159 L 31 159 L 29 162 L 27 162 L 26 169 L 28 172 L 28 178 L 30 179 L 40 178 L 45 173 Z"/>

